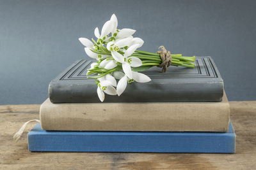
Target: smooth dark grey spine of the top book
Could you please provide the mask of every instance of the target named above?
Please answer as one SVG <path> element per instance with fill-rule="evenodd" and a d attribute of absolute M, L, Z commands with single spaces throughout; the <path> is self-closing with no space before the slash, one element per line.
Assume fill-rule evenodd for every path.
<path fill-rule="evenodd" d="M 160 82 L 160 83 L 159 83 Z M 131 83 L 125 92 L 119 96 L 106 96 L 104 103 L 154 103 L 154 102 L 200 102 L 221 101 L 223 97 L 223 80 L 206 81 L 202 79 L 182 82 L 173 79 L 172 83 L 157 82 Z M 81 81 L 49 84 L 49 98 L 52 103 L 100 103 L 97 96 L 97 86 Z"/>

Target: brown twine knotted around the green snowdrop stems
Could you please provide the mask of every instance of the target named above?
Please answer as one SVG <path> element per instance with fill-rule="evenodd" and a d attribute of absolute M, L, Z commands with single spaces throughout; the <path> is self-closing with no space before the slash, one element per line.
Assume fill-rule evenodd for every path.
<path fill-rule="evenodd" d="M 159 49 L 161 49 L 162 51 L 157 51 L 156 53 L 160 54 L 162 62 L 157 67 L 162 67 L 162 73 L 164 73 L 166 72 L 167 67 L 169 67 L 172 64 L 172 56 L 171 52 L 167 51 L 163 45 L 159 46 Z"/>

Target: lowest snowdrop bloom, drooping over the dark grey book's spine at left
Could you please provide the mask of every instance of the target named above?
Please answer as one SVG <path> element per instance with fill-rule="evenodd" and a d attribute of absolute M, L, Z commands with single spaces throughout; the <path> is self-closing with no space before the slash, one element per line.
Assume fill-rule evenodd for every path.
<path fill-rule="evenodd" d="M 100 82 L 98 83 L 97 94 L 100 101 L 102 102 L 104 101 L 104 98 L 105 98 L 104 92 L 112 96 L 116 95 L 116 89 L 115 87 L 113 87 L 113 86 L 116 86 L 116 80 L 113 76 L 111 76 L 110 74 L 107 74 L 102 78 L 98 78 L 98 80 Z"/>

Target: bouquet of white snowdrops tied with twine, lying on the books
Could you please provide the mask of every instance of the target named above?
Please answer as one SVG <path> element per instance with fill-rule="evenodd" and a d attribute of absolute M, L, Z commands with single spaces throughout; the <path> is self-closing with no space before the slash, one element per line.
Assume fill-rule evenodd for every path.
<path fill-rule="evenodd" d="M 127 83 L 150 81 L 147 75 L 138 71 L 145 71 L 152 66 L 162 67 L 162 72 L 165 72 L 170 65 L 195 67 L 193 63 L 195 56 L 184 57 L 181 54 L 171 54 L 164 46 L 160 46 L 162 51 L 157 53 L 137 50 L 143 45 L 143 39 L 132 36 L 134 29 L 117 29 L 117 25 L 116 15 L 113 14 L 103 25 L 101 32 L 98 27 L 95 28 L 94 34 L 97 40 L 79 38 L 85 46 L 86 54 L 97 60 L 91 64 L 87 75 L 88 78 L 95 79 L 100 101 L 104 101 L 104 93 L 120 96 L 127 87 Z"/>

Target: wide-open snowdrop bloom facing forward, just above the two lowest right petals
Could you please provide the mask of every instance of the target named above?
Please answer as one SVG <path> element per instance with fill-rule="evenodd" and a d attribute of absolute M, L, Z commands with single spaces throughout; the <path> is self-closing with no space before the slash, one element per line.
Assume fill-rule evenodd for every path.
<path fill-rule="evenodd" d="M 120 40 L 122 41 L 122 40 Z M 119 42 L 119 41 L 118 41 Z M 118 43 L 117 42 L 117 43 Z M 110 43 L 110 42 L 109 42 Z M 109 45 L 109 44 L 108 44 Z M 115 48 L 116 43 L 113 45 Z M 132 55 L 132 53 L 135 52 L 135 50 L 140 46 L 139 44 L 135 44 L 130 46 L 124 53 L 124 55 L 118 53 L 115 51 L 115 49 L 112 48 L 111 46 L 109 47 L 109 50 L 111 50 L 112 57 L 117 61 L 122 63 L 122 68 L 124 70 L 124 73 L 132 79 L 132 69 L 131 67 L 140 67 L 142 65 L 142 62 L 139 58 L 137 57 L 129 57 Z M 108 47 L 107 47 L 108 48 Z"/>

